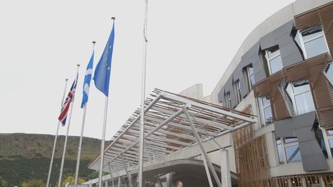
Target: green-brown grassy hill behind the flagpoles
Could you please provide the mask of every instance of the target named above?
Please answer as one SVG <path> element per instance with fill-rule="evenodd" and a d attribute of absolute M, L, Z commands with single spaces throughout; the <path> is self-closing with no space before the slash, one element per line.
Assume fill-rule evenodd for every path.
<path fill-rule="evenodd" d="M 55 136 L 46 134 L 0 133 L 0 177 L 9 186 L 20 186 L 23 181 L 42 179 L 47 182 L 47 174 L 54 146 Z M 61 157 L 65 136 L 58 136 L 50 184 L 54 186 L 59 180 Z M 101 140 L 96 138 L 82 139 L 82 151 L 79 166 L 79 177 L 88 180 L 88 163 L 100 153 Z M 75 175 L 79 136 L 68 136 L 63 177 Z"/>

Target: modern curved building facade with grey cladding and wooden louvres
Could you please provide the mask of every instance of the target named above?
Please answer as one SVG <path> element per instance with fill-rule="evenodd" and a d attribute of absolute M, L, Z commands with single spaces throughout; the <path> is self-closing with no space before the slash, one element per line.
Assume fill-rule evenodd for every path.
<path fill-rule="evenodd" d="M 232 139 L 222 147 L 228 160 L 221 149 L 206 152 L 217 165 L 222 184 L 225 175 L 220 168 L 230 170 L 232 186 L 333 186 L 332 51 L 333 1 L 298 0 L 249 34 L 211 95 L 203 97 L 200 84 L 180 93 L 224 111 L 242 111 L 256 120 L 212 138 L 217 144 L 224 144 L 226 136 Z M 164 158 L 175 164 L 186 158 L 183 162 L 189 169 L 204 170 L 196 161 L 202 162 L 205 156 L 188 154 L 189 150 L 177 149 Z M 92 169 L 97 160 L 91 163 Z M 157 168 L 154 171 L 160 176 L 183 170 L 169 164 Z M 192 177 L 183 178 L 190 184 L 185 186 L 219 186 L 205 177 Z M 167 178 L 162 185 L 174 186 L 176 178 Z"/>

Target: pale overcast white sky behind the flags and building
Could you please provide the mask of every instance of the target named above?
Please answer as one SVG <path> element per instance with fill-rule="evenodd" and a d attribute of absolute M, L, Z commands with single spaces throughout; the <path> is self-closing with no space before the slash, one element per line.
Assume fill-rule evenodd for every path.
<path fill-rule="evenodd" d="M 203 83 L 210 95 L 247 35 L 295 0 L 148 1 L 146 96 Z M 226 3 L 227 2 L 227 3 Z M 82 85 L 115 20 L 106 140 L 141 104 L 144 0 L 0 1 L 0 133 L 56 134 L 79 67 L 70 136 L 80 136 Z M 105 97 L 91 81 L 84 136 L 102 138 Z M 59 128 L 65 135 L 66 127 Z"/>

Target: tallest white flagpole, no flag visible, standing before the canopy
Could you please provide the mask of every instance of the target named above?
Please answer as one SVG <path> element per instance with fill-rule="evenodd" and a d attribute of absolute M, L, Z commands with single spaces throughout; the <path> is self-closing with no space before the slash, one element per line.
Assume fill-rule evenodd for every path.
<path fill-rule="evenodd" d="M 141 90 L 141 117 L 140 117 L 140 140 L 139 140 L 139 187 L 143 186 L 142 171 L 144 168 L 144 100 L 146 90 L 146 54 L 147 54 L 147 13 L 148 13 L 148 0 L 145 0 L 145 14 L 144 14 L 144 60 L 142 63 L 142 90 Z"/>

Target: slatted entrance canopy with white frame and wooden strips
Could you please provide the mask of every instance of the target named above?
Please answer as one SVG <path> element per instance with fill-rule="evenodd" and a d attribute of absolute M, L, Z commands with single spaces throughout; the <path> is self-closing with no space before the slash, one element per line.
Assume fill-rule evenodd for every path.
<path fill-rule="evenodd" d="M 103 172 L 138 168 L 140 122 L 138 108 L 105 146 Z M 250 114 L 155 89 L 145 101 L 144 163 L 165 161 L 164 156 L 198 144 L 196 135 L 201 142 L 212 140 L 254 122 Z M 100 170 L 100 158 L 88 168 Z"/>

